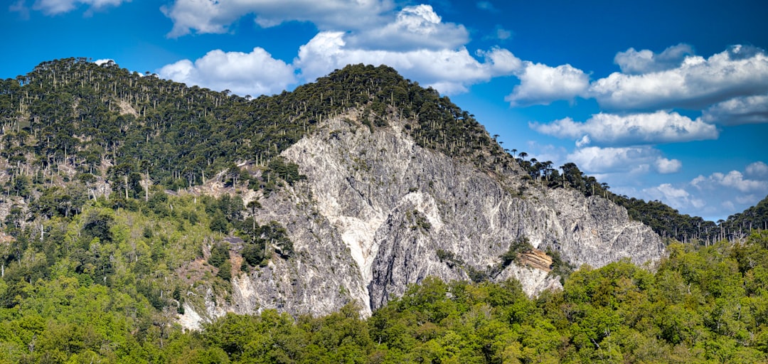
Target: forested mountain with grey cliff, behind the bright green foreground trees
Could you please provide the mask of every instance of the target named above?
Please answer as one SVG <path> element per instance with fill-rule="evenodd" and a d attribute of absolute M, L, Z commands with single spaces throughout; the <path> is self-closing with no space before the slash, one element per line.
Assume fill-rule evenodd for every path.
<path fill-rule="evenodd" d="M 428 276 L 535 295 L 574 267 L 664 255 L 607 194 L 386 66 L 251 99 L 68 58 L 2 81 L 0 120 L 7 307 L 61 273 L 136 286 L 190 328 L 369 315 Z"/>

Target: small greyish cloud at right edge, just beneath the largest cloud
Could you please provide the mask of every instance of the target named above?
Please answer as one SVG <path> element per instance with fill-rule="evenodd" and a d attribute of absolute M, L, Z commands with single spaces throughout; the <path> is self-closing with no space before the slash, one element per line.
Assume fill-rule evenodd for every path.
<path fill-rule="evenodd" d="M 721 125 L 768 123 L 768 94 L 732 98 L 714 104 L 703 111 L 701 120 Z"/>

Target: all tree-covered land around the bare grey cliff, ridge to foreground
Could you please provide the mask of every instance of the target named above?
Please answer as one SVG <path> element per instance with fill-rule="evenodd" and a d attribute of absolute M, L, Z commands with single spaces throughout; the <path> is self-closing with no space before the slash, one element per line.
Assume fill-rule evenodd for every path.
<path fill-rule="evenodd" d="M 257 221 L 258 197 L 305 179 L 278 154 L 350 112 L 362 130 L 398 121 L 415 144 L 484 174 L 602 196 L 664 237 L 710 247 L 672 243 L 655 273 L 582 267 L 538 299 L 515 282 L 430 279 L 369 319 L 356 306 L 265 310 L 184 333 L 185 305 L 232 299 L 233 276 L 317 253 Z M 768 237 L 715 243 L 763 227 L 765 200 L 717 226 L 617 196 L 575 164 L 505 151 L 472 114 L 386 66 L 252 99 L 68 58 L 0 81 L 0 124 L 0 362 L 766 360 Z M 215 196 L 200 192 L 211 180 Z M 410 213 L 412 230 L 429 231 Z"/>

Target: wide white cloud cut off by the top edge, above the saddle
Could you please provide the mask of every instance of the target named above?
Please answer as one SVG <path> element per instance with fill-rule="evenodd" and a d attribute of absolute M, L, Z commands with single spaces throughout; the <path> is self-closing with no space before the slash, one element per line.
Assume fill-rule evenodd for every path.
<path fill-rule="evenodd" d="M 362 29 L 385 22 L 382 14 L 394 5 L 389 0 L 176 0 L 162 12 L 174 22 L 170 37 L 197 33 L 225 33 L 240 17 L 255 15 L 257 25 L 268 28 L 283 22 L 312 22 L 321 30 Z"/>

